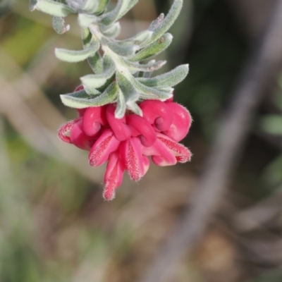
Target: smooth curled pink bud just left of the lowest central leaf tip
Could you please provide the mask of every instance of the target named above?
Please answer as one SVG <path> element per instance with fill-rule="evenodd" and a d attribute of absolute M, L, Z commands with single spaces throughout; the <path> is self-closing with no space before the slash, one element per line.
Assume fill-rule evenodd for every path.
<path fill-rule="evenodd" d="M 106 106 L 106 119 L 108 120 L 109 125 L 111 126 L 111 130 L 114 131 L 114 135 L 117 140 L 128 140 L 131 136 L 131 131 L 128 128 L 128 125 L 125 124 L 125 117 L 120 119 L 116 118 L 114 116 L 115 110 L 116 108 L 112 104 Z"/>

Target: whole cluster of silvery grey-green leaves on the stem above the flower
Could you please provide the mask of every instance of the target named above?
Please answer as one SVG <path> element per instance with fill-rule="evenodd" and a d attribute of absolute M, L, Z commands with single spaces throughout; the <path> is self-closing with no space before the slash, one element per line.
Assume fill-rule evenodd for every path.
<path fill-rule="evenodd" d="M 31 11 L 37 9 L 54 16 L 54 30 L 59 34 L 70 29 L 64 18 L 70 13 L 78 14 L 83 49 L 56 49 L 55 54 L 69 63 L 87 60 L 94 74 L 80 78 L 84 90 L 62 94 L 63 104 L 83 109 L 116 103 L 116 118 L 122 118 L 126 109 L 142 115 L 138 102 L 169 99 L 173 86 L 188 75 L 188 65 L 183 65 L 151 78 L 166 63 L 153 58 L 171 44 L 173 36 L 168 30 L 178 18 L 183 0 L 174 0 L 168 14 L 161 14 L 147 30 L 128 39 L 116 39 L 121 32 L 118 20 L 137 1 L 118 0 L 115 8 L 108 11 L 109 0 L 30 0 Z"/>

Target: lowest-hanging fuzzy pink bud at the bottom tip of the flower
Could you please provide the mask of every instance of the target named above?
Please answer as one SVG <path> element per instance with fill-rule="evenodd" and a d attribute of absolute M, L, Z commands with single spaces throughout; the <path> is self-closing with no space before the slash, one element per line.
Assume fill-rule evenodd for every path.
<path fill-rule="evenodd" d="M 125 168 L 118 158 L 118 152 L 111 153 L 109 162 L 106 166 L 106 173 L 104 176 L 105 188 L 103 196 L 105 200 L 113 200 L 115 197 L 115 190 L 121 185 L 123 180 L 123 173 Z"/>

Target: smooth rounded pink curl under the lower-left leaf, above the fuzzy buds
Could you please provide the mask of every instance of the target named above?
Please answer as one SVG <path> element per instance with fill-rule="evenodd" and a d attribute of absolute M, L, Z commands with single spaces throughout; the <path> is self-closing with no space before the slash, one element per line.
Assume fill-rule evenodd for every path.
<path fill-rule="evenodd" d="M 83 130 L 88 136 L 95 136 L 102 126 L 107 124 L 106 108 L 104 106 L 91 106 L 83 114 Z"/>

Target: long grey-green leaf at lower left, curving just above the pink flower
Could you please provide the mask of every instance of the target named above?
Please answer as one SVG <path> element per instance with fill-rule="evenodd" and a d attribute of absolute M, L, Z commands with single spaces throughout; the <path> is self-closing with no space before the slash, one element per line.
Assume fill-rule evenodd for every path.
<path fill-rule="evenodd" d="M 118 85 L 112 83 L 102 94 L 97 97 L 87 95 L 87 97 L 78 97 L 73 94 L 61 95 L 61 101 L 64 105 L 75 109 L 85 109 L 89 106 L 104 106 L 113 102 L 118 94 Z"/>

